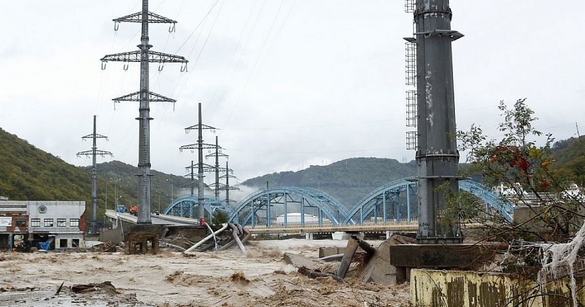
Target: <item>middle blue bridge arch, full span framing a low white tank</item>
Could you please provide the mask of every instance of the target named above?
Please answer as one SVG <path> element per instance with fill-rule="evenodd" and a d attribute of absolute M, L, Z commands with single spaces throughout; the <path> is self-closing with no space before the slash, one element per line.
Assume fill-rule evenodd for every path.
<path fill-rule="evenodd" d="M 342 203 L 318 189 L 269 187 L 259 189 L 238 202 L 228 220 L 252 227 L 270 227 L 274 223 L 284 227 L 291 224 L 304 226 L 305 223 L 337 226 L 346 215 L 347 209 Z"/>

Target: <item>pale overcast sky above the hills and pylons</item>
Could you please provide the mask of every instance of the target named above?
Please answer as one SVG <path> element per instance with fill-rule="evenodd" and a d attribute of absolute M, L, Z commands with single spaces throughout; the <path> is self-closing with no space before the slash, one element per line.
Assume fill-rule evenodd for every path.
<path fill-rule="evenodd" d="M 188 73 L 151 65 L 150 88 L 177 99 L 152 104 L 152 167 L 183 175 L 196 154 L 184 127 L 218 127 L 240 180 L 349 157 L 414 159 L 405 150 L 404 40 L 412 15 L 402 0 L 152 0 L 151 11 L 178 20 L 176 33 L 150 26 L 154 51 L 185 56 Z M 215 4 L 215 6 L 214 6 Z M 477 123 L 497 136 L 497 104 L 528 98 L 538 127 L 558 139 L 585 130 L 579 20 L 582 0 L 452 0 L 457 127 Z M 137 163 L 138 105 L 111 98 L 139 89 L 105 54 L 136 50 L 139 25 L 113 18 L 139 11 L 136 0 L 11 1 L 0 9 L 0 127 L 68 163 L 91 142 Z M 211 9 L 211 13 L 205 18 Z M 201 25 L 198 27 L 199 23 Z M 215 135 L 205 132 L 205 142 Z M 101 161 L 104 161 L 103 159 Z M 212 164 L 212 161 L 208 161 Z"/>

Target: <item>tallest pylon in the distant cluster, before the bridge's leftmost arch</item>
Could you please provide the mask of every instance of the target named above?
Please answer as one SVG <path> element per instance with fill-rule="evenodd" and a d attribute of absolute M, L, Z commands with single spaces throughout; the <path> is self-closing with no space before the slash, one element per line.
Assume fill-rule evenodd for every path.
<path fill-rule="evenodd" d="M 191 167 L 197 166 L 197 180 L 199 181 L 198 182 L 199 191 L 198 191 L 198 197 L 197 197 L 197 205 L 199 207 L 199 210 L 198 210 L 199 216 L 198 217 L 199 217 L 199 222 L 202 222 L 202 219 L 205 218 L 205 208 L 204 208 L 205 195 L 204 195 L 204 191 L 203 191 L 203 188 L 204 188 L 204 182 L 203 182 L 204 175 L 203 175 L 203 173 L 205 170 L 212 170 L 214 168 L 211 165 L 203 163 L 203 150 L 204 149 L 216 149 L 217 146 L 214 144 L 203 143 L 203 130 L 208 129 L 208 130 L 213 130 L 215 132 L 215 127 L 204 125 L 202 123 L 201 103 L 199 103 L 198 106 L 199 106 L 199 121 L 198 121 L 197 125 L 193 125 L 193 126 L 185 128 L 185 132 L 187 132 L 187 133 L 189 133 L 190 130 L 197 130 L 197 132 L 198 132 L 197 143 L 181 146 L 181 147 L 179 147 L 179 150 L 180 151 L 197 150 L 198 163 L 195 165 L 191 164 Z M 187 168 L 190 168 L 190 167 L 187 167 Z M 192 171 L 192 169 L 191 169 L 191 171 Z"/>

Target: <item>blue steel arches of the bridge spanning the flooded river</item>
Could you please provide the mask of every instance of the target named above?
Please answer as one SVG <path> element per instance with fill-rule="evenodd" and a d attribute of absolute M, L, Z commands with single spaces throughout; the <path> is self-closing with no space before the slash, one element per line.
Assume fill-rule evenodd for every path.
<path fill-rule="evenodd" d="M 459 181 L 459 189 L 481 199 L 486 209 L 513 219 L 514 206 L 490 188 L 471 180 Z M 228 214 L 230 222 L 249 227 L 363 226 L 384 223 L 411 223 L 417 220 L 417 181 L 414 177 L 388 182 L 370 191 L 347 209 L 333 196 L 314 188 L 269 187 L 246 196 L 231 208 L 215 198 L 205 198 L 205 211 Z M 193 218 L 197 196 L 175 199 L 164 214 Z M 197 212 L 195 210 L 195 212 Z"/>

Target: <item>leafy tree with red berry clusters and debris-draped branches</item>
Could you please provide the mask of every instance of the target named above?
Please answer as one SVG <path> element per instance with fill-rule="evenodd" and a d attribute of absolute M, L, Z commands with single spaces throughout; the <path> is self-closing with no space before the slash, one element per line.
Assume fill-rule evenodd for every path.
<path fill-rule="evenodd" d="M 468 152 L 470 163 L 461 175 L 481 174 L 487 186 L 507 187 L 505 199 L 516 207 L 514 221 L 508 222 L 481 205 L 469 205 L 468 201 L 467 207 L 473 208 L 469 210 L 462 206 L 466 197 L 463 194 L 448 196 L 446 212 L 450 212 L 450 218 L 463 216 L 483 223 L 480 242 L 508 243 L 505 271 L 536 278 L 537 274 L 546 277 L 564 267 L 566 276 L 574 281 L 574 264 L 577 258 L 583 258 L 578 254 L 585 242 L 583 186 L 579 185 L 582 181 L 555 170 L 554 139 L 546 134 L 543 144 L 536 142 L 543 134 L 533 125 L 538 118 L 526 105 L 526 99 L 519 99 L 511 108 L 502 101 L 498 109 L 503 118 L 498 125 L 504 134 L 501 140 L 488 139 L 476 125 L 467 132 L 457 132 L 459 150 Z M 520 210 L 524 211 L 524 218 L 519 215 Z"/>

